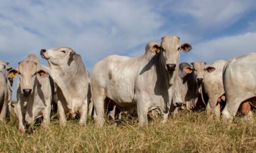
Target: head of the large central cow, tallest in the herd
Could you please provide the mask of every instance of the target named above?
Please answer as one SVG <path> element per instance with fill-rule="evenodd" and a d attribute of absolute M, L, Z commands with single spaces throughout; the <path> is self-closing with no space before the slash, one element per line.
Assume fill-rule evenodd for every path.
<path fill-rule="evenodd" d="M 176 36 L 163 37 L 161 41 L 162 62 L 166 71 L 173 72 L 177 68 L 180 59 L 180 51 L 189 52 L 192 46 L 189 43 L 180 43 Z"/>

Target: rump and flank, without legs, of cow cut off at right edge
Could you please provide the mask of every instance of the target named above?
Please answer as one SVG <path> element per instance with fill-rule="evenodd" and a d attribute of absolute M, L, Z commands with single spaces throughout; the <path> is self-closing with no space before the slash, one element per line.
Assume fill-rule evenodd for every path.
<path fill-rule="evenodd" d="M 240 90 L 248 97 L 256 94 L 256 53 L 234 57 L 227 61 L 223 70 L 223 85 L 225 93 L 232 94 Z M 246 99 L 246 97 L 244 97 Z"/>

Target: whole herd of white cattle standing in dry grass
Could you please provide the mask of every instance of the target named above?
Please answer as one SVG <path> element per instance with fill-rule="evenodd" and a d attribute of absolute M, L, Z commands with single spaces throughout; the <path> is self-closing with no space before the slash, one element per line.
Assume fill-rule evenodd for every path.
<path fill-rule="evenodd" d="M 130 58 L 112 55 L 94 65 L 91 75 L 81 56 L 61 47 L 42 49 L 41 57 L 29 54 L 17 68 L 0 61 L 0 121 L 10 118 L 11 105 L 19 120 L 19 131 L 42 116 L 50 121 L 51 111 L 58 110 L 59 121 L 79 114 L 80 125 L 86 125 L 93 114 L 97 126 L 103 126 L 105 115 L 115 119 L 116 112 L 136 114 L 139 125 L 146 125 L 148 112 L 175 116 L 179 108 L 193 111 L 206 107 L 209 116 L 229 121 L 240 110 L 247 118 L 256 100 L 256 53 L 204 62 L 180 63 L 180 52 L 189 52 L 189 43 L 167 36 L 161 42 L 149 42 L 143 56 Z M 13 78 L 17 82 L 17 103 L 11 103 Z M 225 107 L 224 107 L 225 106 Z M 224 107 L 224 108 L 223 108 Z M 120 117 L 120 116 L 119 116 Z"/>

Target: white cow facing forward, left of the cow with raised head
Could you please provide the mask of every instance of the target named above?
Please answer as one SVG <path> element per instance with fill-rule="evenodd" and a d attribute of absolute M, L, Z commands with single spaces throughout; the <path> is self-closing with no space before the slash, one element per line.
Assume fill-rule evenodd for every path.
<path fill-rule="evenodd" d="M 16 77 L 17 104 L 15 112 L 19 119 L 19 131 L 25 132 L 25 123 L 33 124 L 35 119 L 43 116 L 43 123 L 48 123 L 51 113 L 53 88 L 50 84 L 49 74 L 43 70 L 35 54 L 29 54 L 21 61 L 18 68 L 8 72 L 9 77 Z"/>

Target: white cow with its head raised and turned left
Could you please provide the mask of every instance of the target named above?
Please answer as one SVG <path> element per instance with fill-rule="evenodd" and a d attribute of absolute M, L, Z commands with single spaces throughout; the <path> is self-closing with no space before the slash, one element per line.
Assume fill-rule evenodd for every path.
<path fill-rule="evenodd" d="M 80 125 L 86 125 L 88 103 L 91 99 L 89 74 L 79 54 L 61 47 L 42 49 L 41 56 L 49 63 L 51 77 L 58 85 L 60 123 L 66 124 L 66 114 L 80 112 Z"/>

